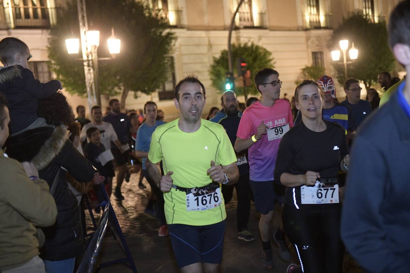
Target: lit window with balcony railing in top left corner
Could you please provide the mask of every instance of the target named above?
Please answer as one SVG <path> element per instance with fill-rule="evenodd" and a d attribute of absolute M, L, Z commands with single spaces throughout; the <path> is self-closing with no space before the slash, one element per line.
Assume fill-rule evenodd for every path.
<path fill-rule="evenodd" d="M 55 8 L 49 8 L 47 0 L 8 0 L 5 4 L 10 28 L 47 28 L 55 21 Z"/>

